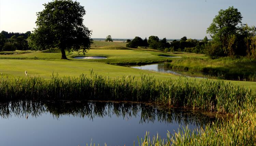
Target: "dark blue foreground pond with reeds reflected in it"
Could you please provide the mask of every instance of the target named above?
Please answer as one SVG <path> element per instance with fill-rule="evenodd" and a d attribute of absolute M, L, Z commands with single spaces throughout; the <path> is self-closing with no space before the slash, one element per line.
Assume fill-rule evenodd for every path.
<path fill-rule="evenodd" d="M 166 138 L 182 126 L 204 127 L 215 117 L 145 103 L 18 101 L 0 105 L 0 145 L 108 146 L 138 144 L 138 137 Z"/>

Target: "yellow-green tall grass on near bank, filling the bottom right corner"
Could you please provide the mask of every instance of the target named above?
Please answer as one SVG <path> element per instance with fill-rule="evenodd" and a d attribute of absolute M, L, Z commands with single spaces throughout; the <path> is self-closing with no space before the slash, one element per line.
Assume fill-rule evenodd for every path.
<path fill-rule="evenodd" d="M 175 134 L 167 133 L 166 139 L 157 136 L 150 138 L 146 133 L 139 140 L 140 146 L 169 146 L 169 145 L 217 145 L 217 146 L 254 146 L 256 145 L 256 107 L 240 111 L 231 120 L 213 123 L 204 129 L 189 130 L 188 127 Z"/>

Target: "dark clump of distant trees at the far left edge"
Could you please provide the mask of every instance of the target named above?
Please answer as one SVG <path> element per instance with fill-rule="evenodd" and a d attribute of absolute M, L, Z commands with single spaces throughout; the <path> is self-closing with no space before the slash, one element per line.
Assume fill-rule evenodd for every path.
<path fill-rule="evenodd" d="M 19 36 L 17 37 L 16 35 L 12 35 L 9 38 L 10 34 L 18 34 Z M 0 51 L 29 50 L 26 37 L 28 37 L 31 33 L 25 33 L 26 37 L 24 37 L 22 34 L 24 33 L 8 33 L 2 31 L 0 33 Z"/>

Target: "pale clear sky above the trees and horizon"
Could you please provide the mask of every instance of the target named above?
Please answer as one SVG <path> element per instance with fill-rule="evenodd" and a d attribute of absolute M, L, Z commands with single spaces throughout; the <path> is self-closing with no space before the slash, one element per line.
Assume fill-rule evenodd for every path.
<path fill-rule="evenodd" d="M 51 0 L 0 0 L 0 31 L 27 32 L 36 12 Z M 256 26 L 256 0 L 77 0 L 86 10 L 84 24 L 92 38 L 149 36 L 202 39 L 218 11 L 238 8 L 242 23 Z"/>

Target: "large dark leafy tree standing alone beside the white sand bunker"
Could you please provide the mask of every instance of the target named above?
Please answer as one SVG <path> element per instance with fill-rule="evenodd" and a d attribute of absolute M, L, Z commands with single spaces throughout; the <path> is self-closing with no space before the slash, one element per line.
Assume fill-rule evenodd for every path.
<path fill-rule="evenodd" d="M 72 0 L 54 0 L 43 5 L 44 10 L 37 13 L 37 28 L 29 36 L 30 47 L 59 48 L 61 59 L 67 59 L 65 50 L 85 54 L 93 40 L 91 31 L 83 24 L 84 6 Z"/>

